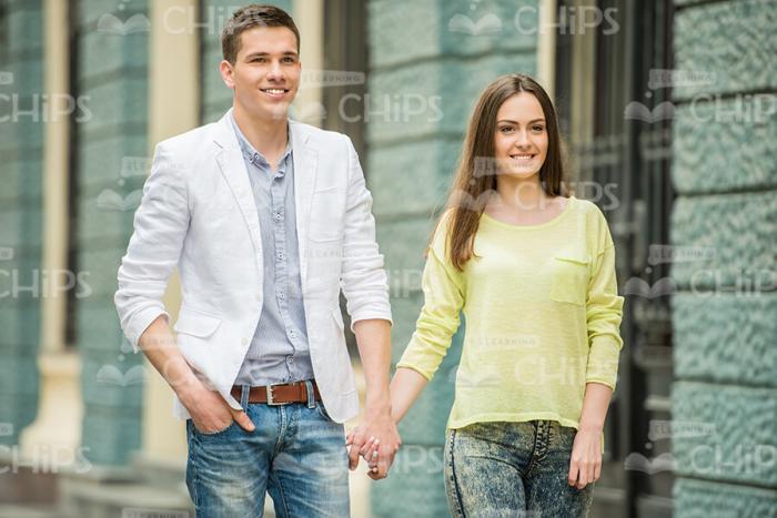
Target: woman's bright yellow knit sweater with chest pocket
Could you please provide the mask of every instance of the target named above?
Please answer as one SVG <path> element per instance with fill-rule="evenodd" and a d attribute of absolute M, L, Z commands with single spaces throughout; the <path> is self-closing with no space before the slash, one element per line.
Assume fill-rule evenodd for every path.
<path fill-rule="evenodd" d="M 623 297 L 604 215 L 571 197 L 541 225 L 484 214 L 464 272 L 446 252 L 443 216 L 423 274 L 424 307 L 398 367 L 431 379 L 466 318 L 448 428 L 556 420 L 577 428 L 588 382 L 615 388 Z"/>

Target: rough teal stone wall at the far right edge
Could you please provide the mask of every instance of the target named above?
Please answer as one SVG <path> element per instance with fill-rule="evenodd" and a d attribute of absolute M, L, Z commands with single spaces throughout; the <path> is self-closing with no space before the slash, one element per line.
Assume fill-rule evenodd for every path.
<path fill-rule="evenodd" d="M 774 516 L 777 3 L 675 3 L 675 516 Z"/>

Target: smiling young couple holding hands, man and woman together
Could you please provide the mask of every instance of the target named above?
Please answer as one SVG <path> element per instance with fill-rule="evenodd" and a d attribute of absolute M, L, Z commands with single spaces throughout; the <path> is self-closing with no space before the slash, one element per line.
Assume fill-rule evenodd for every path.
<path fill-rule="evenodd" d="M 372 478 L 387 476 L 396 424 L 462 313 L 441 474 L 452 515 L 585 516 L 623 298 L 602 212 L 565 193 L 547 93 L 511 74 L 481 94 L 390 383 L 389 290 L 359 158 L 347 136 L 287 115 L 301 73 L 294 21 L 241 8 L 222 50 L 233 106 L 157 145 L 115 294 L 123 332 L 186 419 L 196 516 L 262 516 L 266 492 L 279 517 L 349 516 L 349 466 L 362 457 Z M 162 296 L 175 267 L 173 336 Z M 360 402 L 341 290 L 366 382 L 347 436 Z"/>

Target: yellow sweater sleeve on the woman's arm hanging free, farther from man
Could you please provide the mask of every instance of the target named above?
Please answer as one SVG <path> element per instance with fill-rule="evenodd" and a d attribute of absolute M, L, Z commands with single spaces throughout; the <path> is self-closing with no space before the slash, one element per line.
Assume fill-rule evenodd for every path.
<path fill-rule="evenodd" d="M 615 277 L 615 246 L 602 215 L 602 248 L 598 251 L 586 299 L 588 363 L 586 383 L 597 382 L 615 389 L 618 356 L 623 347 L 620 318 L 624 298 Z"/>

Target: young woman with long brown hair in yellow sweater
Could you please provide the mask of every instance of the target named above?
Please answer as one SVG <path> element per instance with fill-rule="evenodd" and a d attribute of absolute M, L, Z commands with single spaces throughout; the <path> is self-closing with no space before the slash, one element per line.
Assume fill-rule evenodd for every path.
<path fill-rule="evenodd" d="M 565 196 L 563 180 L 547 93 L 526 75 L 494 81 L 470 121 L 427 251 L 425 304 L 391 384 L 398 421 L 463 311 L 445 447 L 457 517 L 585 516 L 599 477 L 623 298 L 604 215 Z"/>

